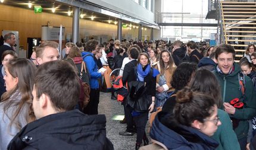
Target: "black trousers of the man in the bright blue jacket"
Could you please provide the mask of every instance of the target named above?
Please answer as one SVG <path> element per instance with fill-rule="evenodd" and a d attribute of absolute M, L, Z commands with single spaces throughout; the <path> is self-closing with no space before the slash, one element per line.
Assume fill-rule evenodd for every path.
<path fill-rule="evenodd" d="M 86 106 L 85 114 L 98 114 L 99 89 L 90 89 L 90 101 Z"/>

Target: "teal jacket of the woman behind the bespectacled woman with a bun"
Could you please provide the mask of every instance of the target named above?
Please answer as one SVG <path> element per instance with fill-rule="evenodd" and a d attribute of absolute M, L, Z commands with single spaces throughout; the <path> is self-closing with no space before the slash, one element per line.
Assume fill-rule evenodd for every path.
<path fill-rule="evenodd" d="M 229 114 L 218 109 L 218 117 L 220 117 L 221 125 L 218 126 L 217 131 L 211 136 L 220 144 L 216 150 L 240 150 L 238 138 L 232 128 Z"/>

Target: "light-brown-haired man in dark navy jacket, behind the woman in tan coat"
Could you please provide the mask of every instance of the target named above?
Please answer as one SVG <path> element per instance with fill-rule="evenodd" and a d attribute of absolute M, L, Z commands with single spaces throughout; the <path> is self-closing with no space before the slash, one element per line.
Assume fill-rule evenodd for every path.
<path fill-rule="evenodd" d="M 183 49 L 182 47 L 182 42 L 180 40 L 176 40 L 173 43 L 173 60 L 176 66 L 179 66 L 180 63 L 182 62 L 187 62 L 189 61 L 188 55 L 186 55 L 186 50 Z"/>

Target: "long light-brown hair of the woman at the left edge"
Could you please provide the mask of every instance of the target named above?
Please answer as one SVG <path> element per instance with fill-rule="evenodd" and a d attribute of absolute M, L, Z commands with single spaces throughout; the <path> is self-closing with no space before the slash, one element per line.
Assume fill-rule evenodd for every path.
<path fill-rule="evenodd" d="M 23 109 L 25 104 L 29 104 L 29 115 L 27 115 L 27 122 L 32 122 L 35 120 L 35 114 L 33 113 L 32 108 L 32 90 L 34 85 L 34 77 L 36 72 L 36 66 L 28 59 L 13 59 L 7 64 L 8 71 L 11 76 L 18 78 L 18 84 L 10 91 L 5 92 L 1 97 L 1 102 L 4 104 L 4 113 L 11 120 L 10 126 L 15 123 L 15 126 L 18 129 L 21 129 L 21 125 L 18 122 L 15 122 L 18 114 Z M 21 94 L 21 100 L 18 102 L 12 101 L 11 96 L 15 91 L 19 91 Z M 16 106 L 17 109 L 14 110 L 13 116 L 8 116 L 7 111 L 10 107 Z"/>

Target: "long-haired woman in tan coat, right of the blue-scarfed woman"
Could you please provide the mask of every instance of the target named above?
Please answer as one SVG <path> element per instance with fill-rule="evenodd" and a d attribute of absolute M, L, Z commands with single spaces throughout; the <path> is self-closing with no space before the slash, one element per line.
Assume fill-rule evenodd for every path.
<path fill-rule="evenodd" d="M 176 69 L 173 58 L 168 50 L 162 50 L 160 53 L 160 60 L 155 65 L 160 74 L 157 75 L 157 88 L 156 88 L 156 103 L 155 108 L 163 107 L 166 98 L 173 94 L 174 88 L 171 87 L 171 79 L 173 72 Z"/>

